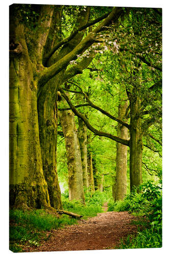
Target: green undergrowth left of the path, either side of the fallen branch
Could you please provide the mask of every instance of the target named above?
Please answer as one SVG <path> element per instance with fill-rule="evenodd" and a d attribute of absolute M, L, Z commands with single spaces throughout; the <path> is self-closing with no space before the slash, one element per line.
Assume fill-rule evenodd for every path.
<path fill-rule="evenodd" d="M 102 212 L 102 205 L 107 200 L 105 193 L 96 192 L 85 195 L 86 205 L 80 201 L 69 201 L 68 194 L 62 194 L 63 209 L 83 215 L 83 219 L 94 217 Z M 10 250 L 21 252 L 23 246 L 40 246 L 46 237 L 45 231 L 63 228 L 65 225 L 77 223 L 77 220 L 66 215 L 57 218 L 44 209 L 29 211 L 10 210 Z"/>

